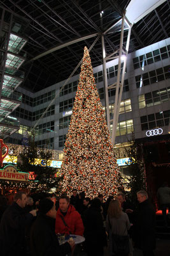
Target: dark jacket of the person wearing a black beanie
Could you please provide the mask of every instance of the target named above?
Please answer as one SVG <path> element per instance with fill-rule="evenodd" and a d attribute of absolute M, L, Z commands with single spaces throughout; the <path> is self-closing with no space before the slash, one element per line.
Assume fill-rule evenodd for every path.
<path fill-rule="evenodd" d="M 39 214 L 30 233 L 31 256 L 64 256 L 71 252 L 69 243 L 59 246 L 55 234 L 55 219 Z"/>

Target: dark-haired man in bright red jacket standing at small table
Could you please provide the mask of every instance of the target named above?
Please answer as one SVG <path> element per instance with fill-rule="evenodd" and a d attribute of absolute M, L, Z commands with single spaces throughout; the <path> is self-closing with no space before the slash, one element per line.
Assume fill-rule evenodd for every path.
<path fill-rule="evenodd" d="M 60 196 L 55 221 L 55 233 L 83 236 L 84 227 L 80 214 L 69 204 L 68 196 Z"/>

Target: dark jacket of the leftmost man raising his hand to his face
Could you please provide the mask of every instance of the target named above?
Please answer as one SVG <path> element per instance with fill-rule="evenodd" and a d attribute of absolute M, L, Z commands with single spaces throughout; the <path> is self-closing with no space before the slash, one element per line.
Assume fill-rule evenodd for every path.
<path fill-rule="evenodd" d="M 0 225 L 1 256 L 25 255 L 25 228 L 32 218 L 32 214 L 25 214 L 16 202 L 4 211 Z"/>

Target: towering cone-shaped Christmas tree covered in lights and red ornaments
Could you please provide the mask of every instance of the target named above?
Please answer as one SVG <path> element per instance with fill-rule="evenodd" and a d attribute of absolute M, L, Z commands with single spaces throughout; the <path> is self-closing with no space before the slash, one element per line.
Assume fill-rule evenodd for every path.
<path fill-rule="evenodd" d="M 99 99 L 87 47 L 81 64 L 80 83 L 64 145 L 60 173 L 64 175 L 62 193 L 73 188 L 86 196 L 116 195 L 122 181 L 113 145 Z"/>

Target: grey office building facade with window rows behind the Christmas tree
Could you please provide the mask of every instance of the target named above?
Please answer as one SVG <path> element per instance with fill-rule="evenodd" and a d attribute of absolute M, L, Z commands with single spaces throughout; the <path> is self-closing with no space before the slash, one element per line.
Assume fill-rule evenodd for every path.
<path fill-rule="evenodd" d="M 117 125 L 117 146 L 131 140 L 132 132 L 135 139 L 153 138 L 157 134 L 152 134 L 156 132 L 152 130 L 157 128 L 160 128 L 157 131 L 157 136 L 168 134 L 170 117 L 169 60 L 170 38 L 128 54 L 124 92 Z M 115 83 L 117 70 L 118 60 L 108 61 L 108 85 Z M 103 65 L 94 68 L 94 77 L 103 108 L 105 108 Z M 71 120 L 71 109 L 78 79 L 79 76 L 71 77 L 61 92 L 60 88 L 65 81 L 53 84 L 37 93 L 31 93 L 18 87 L 17 91 L 22 93 L 22 104 L 13 111 L 11 116 L 20 120 L 20 129 L 8 138 L 8 143 L 21 144 L 26 132 L 31 132 L 32 127 L 36 125 L 36 145 L 38 147 L 48 145 L 49 148 L 62 150 Z M 112 118 L 115 89 L 109 91 L 109 100 L 110 118 Z M 49 104 L 50 107 L 46 109 Z"/>

